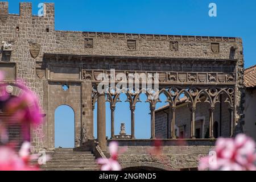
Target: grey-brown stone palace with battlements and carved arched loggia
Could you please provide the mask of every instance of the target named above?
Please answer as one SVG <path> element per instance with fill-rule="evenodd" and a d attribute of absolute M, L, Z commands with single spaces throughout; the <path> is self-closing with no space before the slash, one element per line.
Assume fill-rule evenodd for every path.
<path fill-rule="evenodd" d="M 12 88 L 10 94 L 18 96 L 22 93 L 22 88 L 17 88 L 15 84 L 16 78 L 22 78 L 39 97 L 40 106 L 46 117 L 43 125 L 31 129 L 31 143 L 35 151 L 40 148 L 55 147 L 54 114 L 60 105 L 68 105 L 75 112 L 75 147 L 87 147 L 87 149 L 89 147 L 92 152 L 98 151 L 99 155 L 103 154 L 99 151 L 107 150 L 108 142 L 116 139 L 114 115 L 120 93 L 99 93 L 95 88 L 105 78 L 99 76 L 110 73 L 110 69 L 115 69 L 114 77 L 118 73 L 123 75 L 143 73 L 147 78 L 150 75 L 152 77 L 152 74 L 159 75 L 159 93 L 166 95 L 167 101 L 171 104 L 169 111 L 172 112 L 169 115 L 172 120 L 170 118 L 168 120 L 171 123 L 167 125 L 170 130 L 165 129 L 166 133 L 162 135 L 163 138 L 171 138 L 164 142 L 166 154 L 168 152 L 174 156 L 179 152 L 184 154 L 170 159 L 168 167 L 195 167 L 199 151 L 202 152 L 201 154 L 203 151 L 207 154 L 209 143 L 213 144 L 216 122 L 221 135 L 232 137 L 235 132 L 241 131 L 241 115 L 243 115 L 243 107 L 240 107 L 243 100 L 241 38 L 56 31 L 53 3 L 44 3 L 43 16 L 32 15 L 31 3 L 20 3 L 19 10 L 19 14 L 9 14 L 8 3 L 0 2 L 0 42 L 5 42 L 0 54 L 0 69 L 6 72 L 5 81 Z M 9 45 L 11 48 L 6 49 Z M 114 84 L 120 82 L 120 78 L 113 79 Z M 126 78 L 121 80 L 127 81 Z M 133 81 L 139 84 L 147 82 L 135 78 Z M 138 148 L 132 146 L 147 147 L 152 144 L 151 139 L 155 139 L 155 134 L 158 133 L 158 126 L 155 133 L 157 100 L 148 100 L 151 110 L 151 139 L 136 140 L 134 112 L 139 95 L 143 93 L 142 89 L 139 93 L 134 93 L 134 90 L 129 88 L 125 89 L 130 103 L 130 110 L 127 112 L 131 113 L 131 131 L 127 132 L 130 133 L 128 138 L 118 141 L 120 145 L 131 146 L 129 154 L 134 155 L 120 158 L 122 165 L 126 168 L 135 165 L 156 165 L 155 160 L 150 157 L 147 157 L 147 163 L 142 162 L 144 158 L 141 155 L 137 156 Z M 147 91 L 146 94 L 151 93 Z M 187 97 L 184 103 L 180 103 L 182 95 Z M 106 141 L 106 101 L 110 102 L 112 116 L 112 135 L 108 141 Z M 93 126 L 93 110 L 96 109 L 94 108 L 96 102 L 97 126 Z M 204 107 L 207 104 L 208 106 Z M 229 110 L 222 111 L 220 107 Z M 188 113 L 182 114 L 180 108 L 184 108 Z M 207 112 L 209 113 L 204 117 L 202 113 Z M 221 118 L 218 113 L 223 117 Z M 184 123 L 180 122 L 183 121 L 182 117 L 185 118 Z M 197 130 L 198 123 L 202 126 L 200 132 Z M 191 146 L 185 147 L 182 151 L 179 146 L 171 147 L 177 137 L 176 126 L 180 129 L 178 134 L 184 130 L 185 137 L 192 139 L 188 141 L 188 145 Z M 182 128 L 183 126 L 185 129 Z M 212 140 L 196 140 L 198 133 L 201 133 L 201 137 L 206 135 L 208 127 L 209 138 Z M 216 124 L 215 127 L 217 129 Z M 97 128 L 97 136 L 93 135 L 94 128 Z M 201 148 L 197 147 L 200 145 Z M 143 151 L 145 152 L 146 149 L 141 152 Z M 184 163 L 181 164 L 180 161 Z M 161 165 L 159 164 L 159 168 L 166 169 L 166 166 Z"/>

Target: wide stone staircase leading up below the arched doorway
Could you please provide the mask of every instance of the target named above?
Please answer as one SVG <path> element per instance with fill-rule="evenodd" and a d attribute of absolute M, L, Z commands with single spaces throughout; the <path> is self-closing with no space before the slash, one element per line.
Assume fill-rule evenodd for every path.
<path fill-rule="evenodd" d="M 48 150 L 51 158 L 46 165 L 40 166 L 46 171 L 98 171 L 100 166 L 92 152 L 75 152 L 73 148 L 56 148 Z"/>

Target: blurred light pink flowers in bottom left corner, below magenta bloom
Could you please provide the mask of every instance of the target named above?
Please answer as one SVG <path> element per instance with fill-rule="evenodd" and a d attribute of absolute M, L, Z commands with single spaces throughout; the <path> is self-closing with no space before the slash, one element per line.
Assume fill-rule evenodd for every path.
<path fill-rule="evenodd" d="M 39 171 L 38 166 L 29 164 L 34 156 L 30 155 L 30 143 L 24 142 L 19 155 L 10 146 L 0 147 L 0 171 Z"/>

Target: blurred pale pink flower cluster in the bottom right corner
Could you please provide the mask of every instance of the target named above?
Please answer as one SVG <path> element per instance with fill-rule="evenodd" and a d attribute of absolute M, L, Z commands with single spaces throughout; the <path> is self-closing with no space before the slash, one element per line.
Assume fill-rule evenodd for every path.
<path fill-rule="evenodd" d="M 219 138 L 210 156 L 200 159 L 200 170 L 255 171 L 255 142 L 245 134 L 235 139 Z"/>

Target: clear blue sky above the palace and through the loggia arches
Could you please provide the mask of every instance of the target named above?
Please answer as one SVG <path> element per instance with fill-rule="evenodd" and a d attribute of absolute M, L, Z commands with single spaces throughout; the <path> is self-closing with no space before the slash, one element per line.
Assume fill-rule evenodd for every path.
<path fill-rule="evenodd" d="M 19 13 L 19 2 L 23 1 L 9 1 L 10 13 Z M 255 0 L 34 0 L 29 2 L 33 3 L 33 14 L 37 14 L 37 6 L 40 2 L 55 3 L 56 30 L 241 37 L 245 67 L 256 64 Z M 211 2 L 217 5 L 217 17 L 211 18 L 208 15 L 208 5 Z M 127 103 L 119 105 L 115 115 L 117 121 L 115 129 L 119 131 L 120 123 L 125 122 L 127 133 L 130 133 L 129 106 Z M 108 107 L 109 105 L 106 106 Z M 148 104 L 137 106 L 135 113 L 137 138 L 150 137 L 148 107 Z M 108 113 L 107 135 L 110 136 L 109 108 L 106 113 Z"/>

